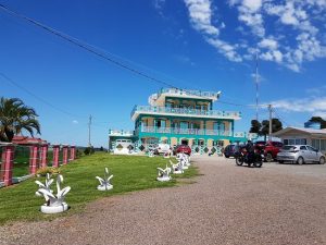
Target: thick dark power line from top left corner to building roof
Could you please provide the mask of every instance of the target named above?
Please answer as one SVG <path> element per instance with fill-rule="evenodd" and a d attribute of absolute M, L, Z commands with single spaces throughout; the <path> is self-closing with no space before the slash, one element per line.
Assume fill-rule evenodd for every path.
<path fill-rule="evenodd" d="M 129 72 L 133 72 L 133 73 L 139 75 L 139 76 L 148 78 L 148 79 L 150 79 L 152 82 L 165 85 L 167 87 L 176 88 L 175 86 L 171 85 L 170 83 L 167 83 L 165 81 L 155 78 L 155 77 L 153 77 L 151 75 L 148 75 L 148 74 L 146 74 L 146 73 L 143 73 L 141 71 L 138 71 L 137 69 L 134 69 L 134 68 L 131 68 L 129 65 L 126 65 L 126 64 L 124 64 L 124 63 L 122 63 L 122 62 L 120 62 L 120 61 L 117 61 L 117 60 L 115 60 L 113 58 L 110 58 L 110 57 L 108 57 L 108 56 L 105 56 L 103 53 L 100 53 L 100 51 L 97 48 L 95 49 L 92 46 L 90 46 L 90 45 L 88 45 L 86 42 L 83 44 L 82 41 L 79 41 L 76 38 L 73 38 L 73 37 L 71 37 L 71 36 L 66 35 L 66 34 L 64 34 L 62 32 L 59 32 L 59 30 L 52 28 L 52 27 L 49 27 L 49 26 L 47 26 L 47 25 L 45 25 L 45 24 L 42 24 L 40 22 L 34 21 L 34 20 L 32 20 L 32 19 L 29 19 L 29 17 L 27 17 L 27 16 L 25 16 L 23 14 L 20 14 L 17 12 L 13 11 L 13 10 L 10 10 L 8 7 L 5 7 L 3 4 L 0 4 L 0 8 L 2 10 L 4 10 L 5 12 L 8 12 L 9 14 L 13 15 L 13 16 L 23 19 L 23 20 L 32 23 L 33 25 L 36 25 L 36 26 L 45 29 L 46 32 L 51 33 L 51 34 L 53 34 L 53 35 L 55 35 L 55 36 L 58 36 L 58 37 L 60 37 L 60 38 L 62 38 L 62 39 L 71 42 L 71 44 L 75 45 L 75 46 L 78 46 L 79 48 L 82 48 L 82 49 L 84 49 L 84 50 L 86 50 L 88 52 L 91 52 L 91 53 L 93 53 L 93 54 L 96 54 L 96 56 L 98 56 L 98 57 L 100 57 L 100 58 L 102 58 L 102 59 L 104 59 L 104 60 L 106 60 L 106 61 L 109 61 L 109 62 L 111 62 L 111 63 L 113 63 L 113 64 L 122 68 L 122 69 L 125 69 L 125 70 L 127 70 Z"/>

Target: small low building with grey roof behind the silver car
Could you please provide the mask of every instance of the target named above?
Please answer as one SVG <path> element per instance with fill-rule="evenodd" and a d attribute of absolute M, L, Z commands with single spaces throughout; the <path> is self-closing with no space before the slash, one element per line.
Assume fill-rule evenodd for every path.
<path fill-rule="evenodd" d="M 326 128 L 314 130 L 289 126 L 274 133 L 273 136 L 281 138 L 285 145 L 311 145 L 322 152 L 326 152 Z"/>

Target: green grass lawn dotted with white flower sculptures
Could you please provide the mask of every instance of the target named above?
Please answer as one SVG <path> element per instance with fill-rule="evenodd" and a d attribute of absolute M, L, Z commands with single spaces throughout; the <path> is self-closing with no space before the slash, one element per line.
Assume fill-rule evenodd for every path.
<path fill-rule="evenodd" d="M 68 216 L 83 211 L 87 203 L 100 197 L 139 189 L 175 186 L 178 179 L 192 177 L 198 174 L 197 168 L 191 166 L 184 174 L 173 175 L 171 182 L 158 182 L 155 180 L 156 167 L 165 168 L 166 163 L 168 163 L 168 159 L 163 157 L 113 156 L 106 152 L 83 157 L 61 167 L 64 177 L 61 187 L 72 187 L 65 199 L 71 207 L 68 211 L 60 215 L 42 215 L 39 208 L 45 199 L 35 195 L 38 186 L 34 181 L 39 180 L 45 183 L 45 177 L 33 177 L 20 184 L 0 188 L 0 224 L 15 220 L 45 220 Z M 105 167 L 109 168 L 110 174 L 114 175 L 111 180 L 114 187 L 109 192 L 99 192 L 97 191 L 99 182 L 96 176 L 103 177 Z M 55 182 L 51 187 L 57 194 Z"/>

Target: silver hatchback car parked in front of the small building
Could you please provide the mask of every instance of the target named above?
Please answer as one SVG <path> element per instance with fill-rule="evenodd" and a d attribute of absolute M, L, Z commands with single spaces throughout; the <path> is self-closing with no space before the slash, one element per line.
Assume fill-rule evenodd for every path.
<path fill-rule="evenodd" d="M 306 162 L 325 163 L 325 156 L 317 149 L 309 145 L 292 145 L 284 146 L 280 152 L 277 154 L 277 161 L 283 163 L 285 161 L 297 162 L 299 164 Z"/>

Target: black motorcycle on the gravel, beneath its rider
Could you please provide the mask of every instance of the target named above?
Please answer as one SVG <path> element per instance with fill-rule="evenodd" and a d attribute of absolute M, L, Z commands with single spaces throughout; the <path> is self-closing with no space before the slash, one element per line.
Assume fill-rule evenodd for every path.
<path fill-rule="evenodd" d="M 252 156 L 249 155 L 249 152 L 246 150 L 246 148 L 239 149 L 239 151 L 236 154 L 236 163 L 237 166 L 242 166 L 243 163 L 248 164 L 248 167 L 261 168 L 263 166 L 264 161 L 264 152 L 262 149 L 254 149 L 254 152 Z"/>

